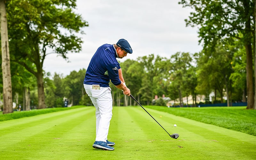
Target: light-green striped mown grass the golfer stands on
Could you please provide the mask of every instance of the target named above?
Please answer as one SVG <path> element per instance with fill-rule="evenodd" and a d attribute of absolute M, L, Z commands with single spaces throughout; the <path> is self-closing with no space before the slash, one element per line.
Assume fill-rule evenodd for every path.
<path fill-rule="evenodd" d="M 256 137 L 146 108 L 114 107 L 108 140 L 92 148 L 95 108 L 82 107 L 0 122 L 0 159 L 255 159 Z M 177 124 L 174 127 L 173 124 Z"/>

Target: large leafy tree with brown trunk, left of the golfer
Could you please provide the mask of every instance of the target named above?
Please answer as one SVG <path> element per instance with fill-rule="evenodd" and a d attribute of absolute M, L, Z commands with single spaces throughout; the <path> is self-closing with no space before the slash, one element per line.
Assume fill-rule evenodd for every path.
<path fill-rule="evenodd" d="M 14 61 L 36 76 L 39 109 L 45 108 L 43 64 L 46 55 L 57 53 L 66 59 L 68 52 L 81 50 L 83 42 L 76 33 L 83 34 L 81 28 L 88 24 L 74 13 L 75 8 L 76 0 L 8 2 Z M 47 53 L 48 50 L 52 52 Z"/>

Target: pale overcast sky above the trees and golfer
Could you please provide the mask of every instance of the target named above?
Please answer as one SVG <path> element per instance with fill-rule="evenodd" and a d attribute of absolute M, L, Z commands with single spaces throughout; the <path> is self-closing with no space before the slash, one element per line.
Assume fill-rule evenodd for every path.
<path fill-rule="evenodd" d="M 56 54 L 44 60 L 46 72 L 69 75 L 71 71 L 87 69 L 102 44 L 116 44 L 124 38 L 133 53 L 120 60 L 136 60 L 148 54 L 170 58 L 176 52 L 195 53 L 198 45 L 197 28 L 186 27 L 185 19 L 191 9 L 182 8 L 180 0 L 77 0 L 76 13 L 81 14 L 89 27 L 80 53 L 68 53 L 68 61 Z M 122 66 L 121 66 L 122 67 Z"/>

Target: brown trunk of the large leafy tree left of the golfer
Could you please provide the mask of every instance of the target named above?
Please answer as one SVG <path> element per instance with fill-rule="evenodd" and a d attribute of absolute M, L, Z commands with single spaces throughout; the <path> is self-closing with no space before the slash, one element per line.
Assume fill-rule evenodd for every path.
<path fill-rule="evenodd" d="M 44 100 L 44 82 L 43 82 L 43 74 L 37 74 L 37 93 L 38 93 L 38 109 L 43 109 L 45 107 Z"/>

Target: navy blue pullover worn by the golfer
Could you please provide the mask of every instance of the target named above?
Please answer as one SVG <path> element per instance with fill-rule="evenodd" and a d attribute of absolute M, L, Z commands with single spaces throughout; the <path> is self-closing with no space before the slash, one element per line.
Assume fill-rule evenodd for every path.
<path fill-rule="evenodd" d="M 84 84 L 99 84 L 100 87 L 109 87 L 109 82 L 114 85 L 121 84 L 118 75 L 120 64 L 116 60 L 117 53 L 113 44 L 103 44 L 92 57 L 86 70 Z"/>

